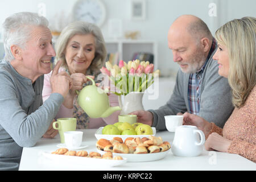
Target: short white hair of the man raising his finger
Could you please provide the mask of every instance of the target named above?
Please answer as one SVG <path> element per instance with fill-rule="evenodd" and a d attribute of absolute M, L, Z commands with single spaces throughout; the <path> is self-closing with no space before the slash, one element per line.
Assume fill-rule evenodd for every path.
<path fill-rule="evenodd" d="M 31 26 L 48 27 L 48 20 L 36 13 L 21 12 L 6 18 L 3 23 L 3 46 L 5 48 L 5 60 L 14 60 L 11 53 L 11 45 L 24 48 L 30 38 Z"/>

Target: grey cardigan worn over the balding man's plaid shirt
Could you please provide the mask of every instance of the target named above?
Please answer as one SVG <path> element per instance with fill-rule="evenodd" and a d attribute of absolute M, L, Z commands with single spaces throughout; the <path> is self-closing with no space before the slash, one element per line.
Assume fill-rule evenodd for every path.
<path fill-rule="evenodd" d="M 223 127 L 232 114 L 232 92 L 228 79 L 218 75 L 218 64 L 212 59 L 213 51 L 205 66 L 201 81 L 201 98 L 199 116 L 209 122 Z M 154 115 L 153 125 L 158 130 L 166 130 L 164 115 L 176 115 L 189 111 L 188 106 L 188 81 L 189 74 L 179 69 L 176 84 L 170 100 L 158 110 L 148 110 Z"/>

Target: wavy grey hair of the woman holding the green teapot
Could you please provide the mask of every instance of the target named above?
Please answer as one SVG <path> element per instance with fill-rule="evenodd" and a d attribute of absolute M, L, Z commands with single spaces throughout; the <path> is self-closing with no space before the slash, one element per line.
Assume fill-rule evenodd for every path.
<path fill-rule="evenodd" d="M 91 72 L 98 72 L 102 65 L 104 65 L 107 55 L 105 40 L 103 38 L 100 28 L 97 27 L 95 24 L 88 22 L 73 22 L 65 27 L 63 31 L 61 31 L 61 34 L 55 44 L 55 64 L 57 61 L 63 60 L 63 65 L 67 66 L 67 61 L 65 60 L 65 48 L 67 47 L 69 39 L 77 34 L 92 34 L 94 36 L 96 43 L 95 57 L 88 70 Z"/>

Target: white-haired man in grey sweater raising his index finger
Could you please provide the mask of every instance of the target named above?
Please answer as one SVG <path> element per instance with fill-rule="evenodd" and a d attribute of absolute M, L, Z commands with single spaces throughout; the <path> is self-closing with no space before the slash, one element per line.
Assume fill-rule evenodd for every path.
<path fill-rule="evenodd" d="M 17 13 L 3 23 L 5 58 L 0 61 L 0 170 L 17 170 L 23 147 L 43 136 L 54 137 L 49 127 L 72 87 L 65 72 L 51 76 L 52 94 L 43 103 L 44 74 L 51 72 L 55 56 L 46 18 Z"/>

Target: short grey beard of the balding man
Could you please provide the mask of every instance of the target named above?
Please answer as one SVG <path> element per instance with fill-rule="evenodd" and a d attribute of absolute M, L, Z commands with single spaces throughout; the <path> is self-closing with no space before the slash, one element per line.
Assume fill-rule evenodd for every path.
<path fill-rule="evenodd" d="M 203 67 L 206 57 L 203 51 L 197 49 L 195 54 L 193 54 L 191 58 L 188 60 L 190 60 L 188 63 L 187 62 L 178 63 L 178 64 L 187 65 L 186 68 L 181 67 L 181 71 L 183 73 L 196 73 L 201 67 Z"/>

